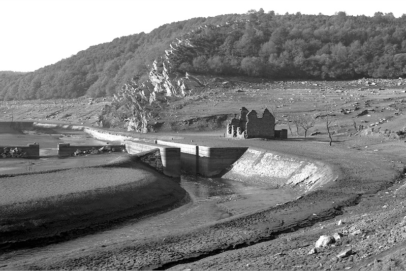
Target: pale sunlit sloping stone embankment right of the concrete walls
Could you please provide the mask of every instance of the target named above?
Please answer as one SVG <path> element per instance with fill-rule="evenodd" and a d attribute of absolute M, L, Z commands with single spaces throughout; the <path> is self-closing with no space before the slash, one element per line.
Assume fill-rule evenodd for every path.
<path fill-rule="evenodd" d="M 223 178 L 305 193 L 332 180 L 333 170 L 320 161 L 249 148 Z"/>

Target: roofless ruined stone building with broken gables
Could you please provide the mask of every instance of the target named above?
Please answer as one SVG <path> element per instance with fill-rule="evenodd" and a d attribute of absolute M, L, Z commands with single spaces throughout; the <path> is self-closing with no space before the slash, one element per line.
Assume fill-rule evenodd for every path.
<path fill-rule="evenodd" d="M 265 108 L 262 118 L 258 118 L 257 112 L 243 107 L 240 109 L 240 117 L 234 118 L 227 124 L 227 137 L 240 139 L 287 139 L 288 130 L 275 130 L 275 118 Z"/>

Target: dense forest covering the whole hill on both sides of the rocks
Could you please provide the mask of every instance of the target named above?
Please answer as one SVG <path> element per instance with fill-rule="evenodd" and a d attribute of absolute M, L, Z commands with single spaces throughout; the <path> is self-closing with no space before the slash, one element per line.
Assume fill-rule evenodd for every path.
<path fill-rule="evenodd" d="M 112 95 L 131 78 L 147 79 L 153 60 L 177 39 L 191 46 L 175 48 L 174 72 L 323 80 L 406 76 L 406 14 L 279 15 L 261 9 L 165 24 L 35 72 L 0 72 L 0 100 Z"/>

